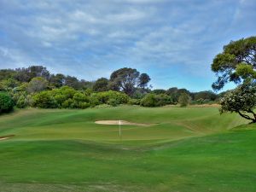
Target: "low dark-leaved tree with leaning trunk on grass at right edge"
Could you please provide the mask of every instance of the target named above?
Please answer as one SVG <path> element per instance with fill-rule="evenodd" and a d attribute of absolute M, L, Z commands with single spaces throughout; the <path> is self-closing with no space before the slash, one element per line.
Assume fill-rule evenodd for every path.
<path fill-rule="evenodd" d="M 239 113 L 242 118 L 256 123 L 256 113 L 253 111 L 256 107 L 256 84 L 245 83 L 239 85 L 235 90 L 226 93 L 220 100 L 220 104 L 220 113 Z"/>

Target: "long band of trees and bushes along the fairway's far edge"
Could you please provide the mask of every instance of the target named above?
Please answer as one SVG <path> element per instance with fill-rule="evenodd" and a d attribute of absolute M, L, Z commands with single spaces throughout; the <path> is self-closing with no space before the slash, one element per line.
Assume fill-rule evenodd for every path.
<path fill-rule="evenodd" d="M 0 70 L 0 112 L 16 108 L 93 108 L 119 104 L 160 107 L 180 103 L 216 102 L 219 95 L 210 90 L 190 92 L 172 87 L 152 90 L 147 73 L 124 67 L 111 73 L 109 79 L 86 81 L 61 73 L 49 73 L 43 66 Z M 8 99 L 9 98 L 9 99 Z M 7 102 L 9 101 L 9 102 Z M 10 108 L 8 108 L 8 106 Z"/>

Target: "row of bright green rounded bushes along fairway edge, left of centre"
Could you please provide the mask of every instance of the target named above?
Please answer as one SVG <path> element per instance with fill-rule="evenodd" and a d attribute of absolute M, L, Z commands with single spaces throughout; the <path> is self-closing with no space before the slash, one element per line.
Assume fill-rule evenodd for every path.
<path fill-rule="evenodd" d="M 125 93 L 109 90 L 92 93 L 63 86 L 60 89 L 42 91 L 33 96 L 32 106 L 38 108 L 90 108 L 99 104 L 117 106 L 129 101 Z M 48 101 L 48 102 L 47 102 Z"/>

